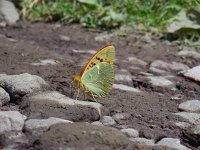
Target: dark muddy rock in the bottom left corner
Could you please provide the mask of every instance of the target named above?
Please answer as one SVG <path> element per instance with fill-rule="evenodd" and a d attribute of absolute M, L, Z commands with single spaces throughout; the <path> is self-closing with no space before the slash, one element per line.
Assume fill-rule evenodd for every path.
<path fill-rule="evenodd" d="M 4 132 L 0 135 L 1 146 L 22 149 L 27 147 L 28 139 L 26 135 L 19 131 Z"/>

